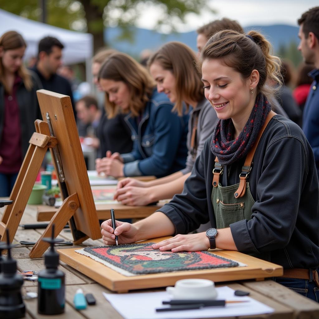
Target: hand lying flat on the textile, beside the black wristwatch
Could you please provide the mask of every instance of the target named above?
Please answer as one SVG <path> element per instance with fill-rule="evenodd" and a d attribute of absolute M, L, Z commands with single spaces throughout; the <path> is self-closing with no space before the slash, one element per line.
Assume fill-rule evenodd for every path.
<path fill-rule="evenodd" d="M 171 250 L 174 253 L 178 251 L 201 251 L 210 249 L 210 247 L 206 233 L 176 235 L 173 238 L 152 245 L 153 249 L 159 249 L 160 251 Z"/>

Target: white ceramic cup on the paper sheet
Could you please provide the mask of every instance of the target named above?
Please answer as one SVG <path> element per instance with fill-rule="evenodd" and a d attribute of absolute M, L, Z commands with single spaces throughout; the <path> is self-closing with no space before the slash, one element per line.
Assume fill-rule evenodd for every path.
<path fill-rule="evenodd" d="M 208 279 L 181 279 L 166 291 L 174 299 L 216 299 L 217 291 L 213 281 Z"/>

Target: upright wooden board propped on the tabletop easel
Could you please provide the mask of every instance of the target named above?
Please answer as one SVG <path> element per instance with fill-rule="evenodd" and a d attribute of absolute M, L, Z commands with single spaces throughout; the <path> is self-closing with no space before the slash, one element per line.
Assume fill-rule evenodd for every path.
<path fill-rule="evenodd" d="M 37 96 L 43 121 L 47 121 L 48 113 L 54 136 L 58 140 L 57 147 L 68 193 L 78 195 L 80 206 L 74 213 L 77 229 L 92 239 L 101 238 L 70 97 L 47 90 L 38 90 Z M 53 158 L 52 151 L 51 155 Z M 56 172 L 58 173 L 57 168 Z"/>

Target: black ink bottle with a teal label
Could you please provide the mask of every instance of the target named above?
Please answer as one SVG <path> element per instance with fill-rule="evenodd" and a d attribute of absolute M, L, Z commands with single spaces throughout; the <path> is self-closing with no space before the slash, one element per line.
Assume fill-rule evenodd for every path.
<path fill-rule="evenodd" d="M 54 238 L 54 224 L 51 238 L 43 238 L 51 244 L 51 249 L 44 254 L 45 270 L 39 272 L 38 278 L 38 313 L 41 315 L 59 315 L 64 312 L 65 286 L 64 273 L 58 270 L 59 254 L 54 244 L 63 240 Z"/>

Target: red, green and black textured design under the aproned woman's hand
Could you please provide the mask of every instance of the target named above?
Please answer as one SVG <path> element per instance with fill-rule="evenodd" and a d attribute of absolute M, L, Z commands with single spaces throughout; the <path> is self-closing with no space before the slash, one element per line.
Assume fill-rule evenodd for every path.
<path fill-rule="evenodd" d="M 179 252 L 152 249 L 154 243 L 119 246 L 86 247 L 83 249 L 102 261 L 133 274 L 235 267 L 239 264 L 207 251 Z M 87 254 L 85 254 L 87 256 Z"/>

